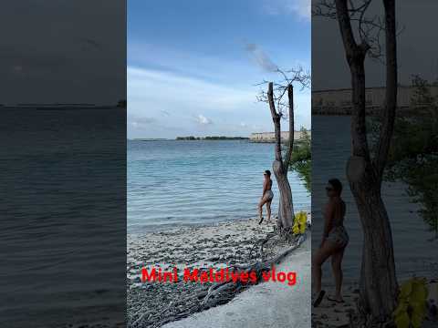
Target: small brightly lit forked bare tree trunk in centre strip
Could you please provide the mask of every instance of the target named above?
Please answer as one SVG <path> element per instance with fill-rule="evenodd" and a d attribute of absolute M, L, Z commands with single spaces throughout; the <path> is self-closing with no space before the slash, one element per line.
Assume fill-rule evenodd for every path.
<path fill-rule="evenodd" d="M 289 122 L 292 118 L 293 127 L 293 89 L 292 86 L 287 87 L 287 95 L 289 97 Z M 288 231 L 294 224 L 294 205 L 292 201 L 292 190 L 290 189 L 289 180 L 287 179 L 288 163 L 293 148 L 294 130 L 290 130 L 289 123 L 289 145 L 287 149 L 286 159 L 283 160 L 281 155 L 281 114 L 276 112 L 276 105 L 274 102 L 274 90 L 273 83 L 270 82 L 267 90 L 267 97 L 269 102 L 269 108 L 271 110 L 272 120 L 274 122 L 274 130 L 276 136 L 276 159 L 272 164 L 272 169 L 276 176 L 276 183 L 278 190 L 280 191 L 279 204 L 278 204 L 278 228 L 280 231 Z M 290 118 L 291 117 L 291 118 Z"/>

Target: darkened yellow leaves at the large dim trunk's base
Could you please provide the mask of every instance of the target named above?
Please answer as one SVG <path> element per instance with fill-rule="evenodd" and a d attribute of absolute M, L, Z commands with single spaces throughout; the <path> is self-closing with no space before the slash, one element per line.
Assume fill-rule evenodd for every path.
<path fill-rule="evenodd" d="M 420 328 L 426 315 L 425 278 L 412 278 L 401 284 L 399 302 L 393 316 L 397 328 Z"/>

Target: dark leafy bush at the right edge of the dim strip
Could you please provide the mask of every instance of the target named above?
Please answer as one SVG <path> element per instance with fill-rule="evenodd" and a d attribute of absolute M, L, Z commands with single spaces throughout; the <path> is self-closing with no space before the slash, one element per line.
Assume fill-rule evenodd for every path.
<path fill-rule="evenodd" d="M 422 205 L 419 213 L 438 238 L 438 99 L 429 86 L 412 78 L 411 115 L 395 120 L 384 179 L 408 185 L 408 195 Z"/>

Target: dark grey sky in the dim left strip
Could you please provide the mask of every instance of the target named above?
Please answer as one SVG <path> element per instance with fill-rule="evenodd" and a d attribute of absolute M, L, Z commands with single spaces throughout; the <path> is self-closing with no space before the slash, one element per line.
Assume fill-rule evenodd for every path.
<path fill-rule="evenodd" d="M 117 104 L 126 97 L 125 13 L 120 0 L 4 2 L 0 104 Z"/>

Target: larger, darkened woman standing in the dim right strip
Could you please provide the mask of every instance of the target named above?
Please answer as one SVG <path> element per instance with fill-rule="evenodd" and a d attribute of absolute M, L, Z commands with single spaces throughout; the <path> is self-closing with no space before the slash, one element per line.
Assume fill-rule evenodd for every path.
<path fill-rule="evenodd" d="M 321 290 L 322 264 L 331 256 L 331 268 L 335 277 L 336 294 L 328 297 L 332 302 L 344 302 L 341 295 L 342 287 L 342 258 L 345 248 L 349 243 L 349 235 L 344 228 L 345 202 L 340 198 L 342 184 L 339 179 L 329 179 L 326 187 L 328 203 L 324 210 L 324 234 L 322 241 L 313 258 L 313 282 L 315 301 L 313 306 L 317 307 L 322 301 L 325 291 Z"/>

